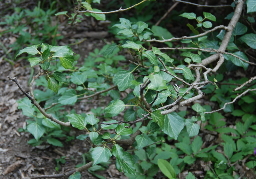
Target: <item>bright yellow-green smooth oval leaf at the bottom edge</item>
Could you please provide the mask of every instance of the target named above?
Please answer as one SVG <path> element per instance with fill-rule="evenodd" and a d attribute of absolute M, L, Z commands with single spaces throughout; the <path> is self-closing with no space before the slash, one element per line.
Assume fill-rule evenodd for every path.
<path fill-rule="evenodd" d="M 164 159 L 158 159 L 157 165 L 159 169 L 163 172 L 163 174 L 167 176 L 169 179 L 176 179 L 175 170 L 168 161 Z"/>

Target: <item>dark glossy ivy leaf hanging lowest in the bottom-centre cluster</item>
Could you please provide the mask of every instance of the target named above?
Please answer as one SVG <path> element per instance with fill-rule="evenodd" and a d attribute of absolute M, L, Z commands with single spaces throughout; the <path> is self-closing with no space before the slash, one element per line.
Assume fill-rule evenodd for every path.
<path fill-rule="evenodd" d="M 129 173 L 132 175 L 136 174 L 132 155 L 129 152 L 124 152 L 124 161 L 116 159 L 116 169 L 120 172 Z"/>

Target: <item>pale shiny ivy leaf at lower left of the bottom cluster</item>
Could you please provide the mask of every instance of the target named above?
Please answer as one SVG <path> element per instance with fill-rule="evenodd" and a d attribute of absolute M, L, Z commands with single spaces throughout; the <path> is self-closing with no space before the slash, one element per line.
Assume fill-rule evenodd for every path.
<path fill-rule="evenodd" d="M 92 149 L 92 166 L 97 165 L 101 162 L 107 162 L 110 157 L 112 156 L 112 153 L 109 151 L 109 149 L 105 147 L 95 147 Z"/>

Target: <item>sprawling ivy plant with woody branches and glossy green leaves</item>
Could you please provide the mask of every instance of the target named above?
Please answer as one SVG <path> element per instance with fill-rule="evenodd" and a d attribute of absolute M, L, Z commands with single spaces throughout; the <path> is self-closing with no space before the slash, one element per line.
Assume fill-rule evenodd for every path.
<path fill-rule="evenodd" d="M 108 46 L 103 52 L 103 55 L 110 55 L 114 53 L 116 49 L 128 49 L 134 59 L 130 60 L 131 65 L 129 69 L 113 69 L 106 64 L 97 65 L 94 69 L 86 68 L 85 66 L 79 68 L 74 67 L 74 56 L 70 47 L 38 44 L 27 47 L 18 53 L 18 55 L 28 53 L 35 56 L 28 58 L 31 67 L 39 64 L 39 71 L 29 84 L 29 94 L 20 86 L 16 78 L 9 78 L 16 82 L 20 90 L 44 117 L 62 126 L 74 127 L 89 133 L 89 135 L 83 134 L 77 136 L 77 139 L 84 140 L 89 136 L 91 144 L 93 145 L 92 161 L 77 168 L 73 173 L 83 171 L 101 162 L 107 162 L 111 156 L 114 155 L 116 157 L 116 168 L 120 172 L 138 175 L 136 171 L 138 168 L 135 169 L 136 166 L 134 166 L 131 153 L 124 151 L 120 144 L 133 145 L 136 151 L 146 149 L 148 154 L 152 154 L 154 153 L 152 151 L 154 151 L 155 146 L 153 146 L 152 150 L 151 145 L 163 142 L 157 141 L 156 137 L 151 133 L 152 131 L 161 130 L 176 140 L 180 132 L 186 126 L 188 136 L 196 136 L 200 129 L 196 122 L 206 120 L 204 115 L 206 110 L 204 107 L 200 104 L 193 105 L 192 109 L 197 115 L 193 116 L 191 119 L 185 119 L 174 111 L 180 106 L 190 104 L 204 97 L 202 88 L 206 85 L 214 85 L 210 84 L 207 75 L 209 73 L 215 73 L 225 59 L 231 61 L 236 66 L 243 67 L 244 70 L 247 69 L 248 59 L 243 52 L 239 51 L 239 49 L 236 49 L 237 51 L 234 53 L 226 52 L 226 50 L 232 46 L 228 43 L 232 41 L 232 36 L 243 35 L 246 32 L 244 30 L 244 33 L 238 33 L 237 31 L 240 28 L 236 28 L 236 32 L 234 34 L 232 33 L 240 18 L 243 3 L 244 0 L 237 2 L 235 13 L 227 27 L 220 25 L 204 31 L 201 34 L 197 34 L 195 28 L 189 26 L 196 34 L 189 37 L 160 38 L 163 40 L 151 39 L 151 36 L 156 33 L 153 32 L 153 28 L 151 30 L 148 27 L 148 24 L 141 21 L 132 23 L 128 19 L 120 18 L 120 23 L 115 24 L 113 27 L 118 28 L 116 34 L 121 35 L 125 40 L 121 44 L 113 43 Z M 88 12 L 92 13 L 91 11 Z M 212 27 L 209 21 L 204 20 L 209 19 L 215 21 L 215 16 L 207 12 L 203 14 L 204 19 L 200 16 L 196 17 L 194 13 L 186 13 L 181 16 L 188 19 L 196 19 L 199 24 L 197 27 Z M 155 30 L 160 30 L 160 28 L 154 27 L 154 31 Z M 220 34 L 217 36 L 220 46 L 218 46 L 218 42 L 208 40 L 207 35 L 216 30 L 221 30 Z M 159 37 L 159 35 L 155 36 Z M 242 36 L 241 40 L 253 48 L 252 40 L 247 40 L 248 36 L 252 36 L 252 34 Z M 182 40 L 182 43 L 191 43 L 194 44 L 195 47 L 168 47 L 160 49 L 152 46 L 152 50 L 148 50 L 147 44 L 145 43 L 166 43 L 174 40 Z M 170 43 L 168 44 L 170 45 Z M 211 48 L 212 46 L 213 48 Z M 184 65 L 185 63 L 183 63 L 175 65 L 175 60 L 170 57 L 171 55 L 163 52 L 163 50 L 166 49 L 189 50 L 181 53 L 181 56 L 186 57 L 184 61 L 188 64 Z M 205 58 L 202 53 L 205 53 L 207 58 Z M 60 62 L 57 62 L 57 60 Z M 216 66 L 213 66 L 213 68 L 208 67 L 209 64 L 217 60 L 218 63 Z M 62 70 L 52 73 L 52 71 L 50 71 L 52 63 L 61 63 L 61 66 L 66 70 L 71 70 L 66 71 L 62 68 Z M 96 73 L 95 70 L 99 73 Z M 65 73 L 70 74 L 70 80 L 66 79 Z M 107 92 L 114 96 L 113 93 L 115 92 L 113 91 L 116 88 L 118 89 L 118 93 L 128 88 L 132 89 L 132 92 L 129 93 L 127 97 L 122 100 L 120 96 L 113 99 L 104 110 L 104 117 L 109 119 L 117 116 L 126 109 L 124 120 L 109 120 L 99 123 L 100 120 L 92 114 L 82 116 L 76 113 L 66 115 L 68 122 L 63 122 L 55 118 L 50 113 L 46 113 L 46 108 L 50 109 L 54 104 L 44 109 L 36 102 L 36 98 L 34 97 L 32 85 L 41 75 L 46 76 L 48 88 L 56 93 L 56 95 L 54 95 L 56 104 L 60 105 L 73 105 L 78 100 L 106 95 Z M 96 78 L 99 80 L 96 80 Z M 86 82 L 88 82 L 88 84 L 86 84 Z M 72 83 L 76 85 L 76 89 L 70 87 Z M 90 90 L 90 88 L 96 89 L 97 92 Z M 59 91 L 61 92 L 59 93 Z M 29 115 L 33 115 L 33 113 L 34 111 Z M 137 130 L 133 131 L 132 126 L 135 123 L 138 123 L 138 129 L 136 128 Z M 115 134 L 108 132 L 101 133 L 98 124 L 100 124 L 101 129 L 114 129 Z M 38 140 L 43 135 L 44 126 L 40 123 L 36 123 L 35 125 L 34 131 L 31 133 L 35 136 L 36 140 Z M 127 138 L 127 136 L 130 136 L 130 138 Z M 179 147 L 182 148 L 181 146 Z M 198 152 L 198 150 L 195 151 Z M 191 152 L 187 153 L 191 154 Z M 155 164 L 163 166 L 164 163 L 166 162 L 158 160 Z M 162 171 L 166 171 L 164 173 L 166 173 L 165 175 L 169 175 L 169 177 L 176 177 L 172 166 L 168 166 Z M 76 173 L 75 175 L 79 174 Z M 72 175 L 72 177 L 75 175 Z"/>

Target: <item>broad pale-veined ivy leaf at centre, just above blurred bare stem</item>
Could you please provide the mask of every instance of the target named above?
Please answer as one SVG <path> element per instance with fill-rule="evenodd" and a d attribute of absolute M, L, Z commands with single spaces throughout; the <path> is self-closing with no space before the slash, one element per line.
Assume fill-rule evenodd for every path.
<path fill-rule="evenodd" d="M 120 70 L 114 75 L 113 83 L 117 85 L 119 91 L 124 91 L 131 86 L 132 80 L 134 80 L 134 76 L 131 72 Z"/>

